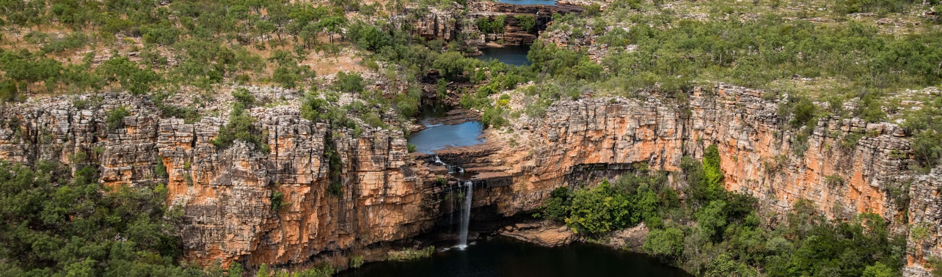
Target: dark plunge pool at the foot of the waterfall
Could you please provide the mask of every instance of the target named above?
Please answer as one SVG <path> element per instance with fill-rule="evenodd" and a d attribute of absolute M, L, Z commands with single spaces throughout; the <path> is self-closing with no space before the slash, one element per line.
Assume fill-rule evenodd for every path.
<path fill-rule="evenodd" d="M 691 277 L 645 254 L 608 246 L 574 243 L 544 247 L 505 237 L 482 237 L 464 250 L 450 249 L 431 257 L 366 263 L 339 276 L 654 276 Z"/>

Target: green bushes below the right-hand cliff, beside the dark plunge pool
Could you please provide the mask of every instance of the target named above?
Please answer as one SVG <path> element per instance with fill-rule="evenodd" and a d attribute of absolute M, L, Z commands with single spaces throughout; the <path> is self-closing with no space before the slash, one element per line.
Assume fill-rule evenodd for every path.
<path fill-rule="evenodd" d="M 829 221 L 798 201 L 782 222 L 758 213 L 755 197 L 723 189 L 716 146 L 685 158 L 680 194 L 666 172 L 639 166 L 614 181 L 551 193 L 542 216 L 578 234 L 606 239 L 645 223 L 642 250 L 701 276 L 898 276 L 905 238 L 876 214 Z M 681 200 L 681 198 L 683 200 Z"/>

